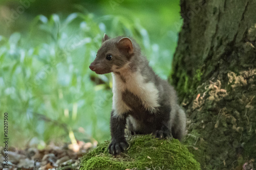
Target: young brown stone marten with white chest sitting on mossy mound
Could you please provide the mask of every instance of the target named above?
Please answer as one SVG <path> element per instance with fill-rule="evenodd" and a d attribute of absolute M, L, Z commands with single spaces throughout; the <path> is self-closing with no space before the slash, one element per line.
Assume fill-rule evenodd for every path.
<path fill-rule="evenodd" d="M 111 39 L 104 34 L 90 69 L 96 74 L 112 72 L 113 76 L 110 154 L 128 148 L 126 126 L 132 134 L 182 139 L 186 116 L 177 104 L 176 91 L 155 74 L 135 40 L 123 36 Z"/>

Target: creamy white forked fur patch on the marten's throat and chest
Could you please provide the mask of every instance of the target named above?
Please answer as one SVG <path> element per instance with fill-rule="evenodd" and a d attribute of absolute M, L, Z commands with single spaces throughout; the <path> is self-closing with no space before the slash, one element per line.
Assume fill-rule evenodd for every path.
<path fill-rule="evenodd" d="M 121 116 L 123 113 L 132 110 L 127 106 L 122 100 L 122 93 L 125 90 L 129 90 L 134 95 L 141 99 L 145 109 L 154 113 L 156 108 L 160 105 L 158 104 L 158 90 L 154 83 L 144 82 L 144 77 L 140 74 L 140 71 L 129 72 L 122 75 L 125 82 L 122 80 L 120 75 L 115 75 L 112 73 L 113 77 L 113 109 L 115 110 L 115 115 Z"/>

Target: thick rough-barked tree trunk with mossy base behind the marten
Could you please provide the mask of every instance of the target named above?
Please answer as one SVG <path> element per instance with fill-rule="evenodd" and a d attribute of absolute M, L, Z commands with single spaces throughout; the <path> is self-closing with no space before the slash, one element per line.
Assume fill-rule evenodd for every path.
<path fill-rule="evenodd" d="M 185 143 L 203 169 L 256 158 L 256 0 L 181 0 L 170 82 L 188 117 Z"/>

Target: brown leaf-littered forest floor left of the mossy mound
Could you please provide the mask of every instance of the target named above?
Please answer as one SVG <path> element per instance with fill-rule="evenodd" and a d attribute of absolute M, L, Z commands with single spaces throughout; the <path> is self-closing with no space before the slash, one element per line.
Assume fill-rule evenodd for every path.
<path fill-rule="evenodd" d="M 91 142 L 78 141 L 77 144 L 63 144 L 59 147 L 53 142 L 44 149 L 39 150 L 29 145 L 25 150 L 14 147 L 4 152 L 0 147 L 0 169 L 4 170 L 34 170 L 34 169 L 79 169 L 82 155 L 87 153 L 95 145 Z M 5 161 L 5 153 L 8 153 L 8 162 Z M 5 164 L 7 163 L 8 166 Z"/>

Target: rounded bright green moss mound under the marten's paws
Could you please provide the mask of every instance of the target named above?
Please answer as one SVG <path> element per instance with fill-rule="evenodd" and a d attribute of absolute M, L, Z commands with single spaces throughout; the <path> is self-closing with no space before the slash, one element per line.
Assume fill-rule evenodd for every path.
<path fill-rule="evenodd" d="M 116 157 L 108 153 L 109 141 L 99 144 L 82 157 L 80 169 L 200 169 L 200 164 L 177 139 L 138 135 L 127 140 L 131 144 L 129 149 Z"/>

